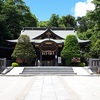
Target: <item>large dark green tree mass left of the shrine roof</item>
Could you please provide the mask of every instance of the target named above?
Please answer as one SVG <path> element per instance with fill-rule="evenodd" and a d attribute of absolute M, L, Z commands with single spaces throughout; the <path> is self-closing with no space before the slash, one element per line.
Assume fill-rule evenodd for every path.
<path fill-rule="evenodd" d="M 0 0 L 0 45 L 19 37 L 22 27 L 37 26 L 37 18 L 23 0 Z"/>

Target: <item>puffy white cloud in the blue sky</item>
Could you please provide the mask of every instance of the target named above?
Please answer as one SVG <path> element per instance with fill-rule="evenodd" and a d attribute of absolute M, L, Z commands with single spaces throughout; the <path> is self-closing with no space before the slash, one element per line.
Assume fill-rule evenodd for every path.
<path fill-rule="evenodd" d="M 78 2 L 75 5 L 74 12 L 75 17 L 85 16 L 87 11 L 94 10 L 95 6 L 91 3 L 93 0 L 86 0 L 85 2 Z"/>

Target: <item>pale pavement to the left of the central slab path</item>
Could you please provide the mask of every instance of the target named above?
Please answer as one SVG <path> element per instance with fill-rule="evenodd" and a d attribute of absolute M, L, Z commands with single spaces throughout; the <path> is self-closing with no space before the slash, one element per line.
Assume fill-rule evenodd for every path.
<path fill-rule="evenodd" d="M 0 76 L 0 100 L 24 100 L 34 77 Z"/>

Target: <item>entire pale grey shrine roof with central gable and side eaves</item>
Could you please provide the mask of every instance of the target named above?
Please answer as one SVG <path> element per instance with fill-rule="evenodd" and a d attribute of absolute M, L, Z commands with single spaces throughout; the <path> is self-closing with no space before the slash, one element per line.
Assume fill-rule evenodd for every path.
<path fill-rule="evenodd" d="M 39 36 L 43 36 L 46 32 L 51 32 L 53 35 L 57 36 L 58 38 L 38 38 Z M 31 42 L 41 43 L 45 40 L 52 40 L 56 43 L 64 42 L 66 36 L 68 35 L 75 35 L 79 43 L 90 42 L 90 40 L 80 40 L 73 28 L 32 28 L 26 27 L 23 28 L 21 31 L 21 35 L 28 35 L 30 37 Z M 8 40 L 9 42 L 17 42 L 18 40 Z"/>

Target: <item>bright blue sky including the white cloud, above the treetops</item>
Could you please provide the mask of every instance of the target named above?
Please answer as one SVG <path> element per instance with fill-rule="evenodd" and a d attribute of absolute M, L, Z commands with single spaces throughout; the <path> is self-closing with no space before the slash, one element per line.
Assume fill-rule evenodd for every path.
<path fill-rule="evenodd" d="M 68 14 L 74 17 L 86 15 L 88 10 L 94 10 L 92 0 L 24 0 L 38 21 L 47 21 L 52 14 L 60 17 Z"/>

